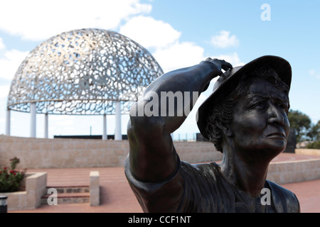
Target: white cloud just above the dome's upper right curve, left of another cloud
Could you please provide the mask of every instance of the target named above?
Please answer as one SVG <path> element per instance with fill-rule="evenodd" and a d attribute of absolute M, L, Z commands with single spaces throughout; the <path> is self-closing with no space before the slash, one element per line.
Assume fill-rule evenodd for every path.
<path fill-rule="evenodd" d="M 119 33 L 144 46 L 144 48 L 163 48 L 180 38 L 181 33 L 164 21 L 156 21 L 146 16 L 136 16 L 122 26 Z"/>

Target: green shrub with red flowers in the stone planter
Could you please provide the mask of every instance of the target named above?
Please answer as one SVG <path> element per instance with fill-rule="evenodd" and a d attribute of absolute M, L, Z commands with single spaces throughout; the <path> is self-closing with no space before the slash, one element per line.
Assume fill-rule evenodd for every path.
<path fill-rule="evenodd" d="M 17 192 L 25 177 L 24 172 L 16 171 L 16 165 L 20 162 L 17 157 L 11 161 L 11 169 L 4 167 L 0 170 L 0 192 Z"/>

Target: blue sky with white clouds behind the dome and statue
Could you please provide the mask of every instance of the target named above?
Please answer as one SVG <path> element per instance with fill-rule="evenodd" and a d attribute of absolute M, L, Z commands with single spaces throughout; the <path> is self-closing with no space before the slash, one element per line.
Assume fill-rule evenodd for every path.
<path fill-rule="evenodd" d="M 263 21 L 262 4 L 270 6 Z M 320 120 L 320 1 L 1 1 L 0 134 L 5 132 L 6 99 L 18 66 L 36 45 L 78 28 L 101 28 L 127 35 L 148 49 L 165 72 L 219 57 L 243 65 L 262 55 L 292 65 L 291 107 L 313 123 Z M 265 15 L 265 14 L 264 14 Z M 203 94 L 199 103 L 205 99 Z M 37 137 L 44 117 L 37 116 Z M 108 116 L 107 132 L 114 133 Z M 102 116 L 49 116 L 53 135 L 102 134 Z M 126 133 L 127 116 L 122 119 Z M 11 112 L 11 135 L 29 136 L 29 114 Z M 197 133 L 194 112 L 178 129 Z M 191 136 L 191 135 L 189 135 Z"/>

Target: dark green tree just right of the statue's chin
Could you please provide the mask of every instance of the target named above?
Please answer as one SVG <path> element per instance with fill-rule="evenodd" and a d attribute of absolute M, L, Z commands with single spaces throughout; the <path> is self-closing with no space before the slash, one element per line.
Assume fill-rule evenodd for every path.
<path fill-rule="evenodd" d="M 311 129 L 311 119 L 306 114 L 292 109 L 288 112 L 290 127 L 296 130 L 297 143 L 303 140 L 311 140 L 309 131 Z"/>

